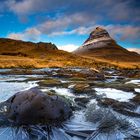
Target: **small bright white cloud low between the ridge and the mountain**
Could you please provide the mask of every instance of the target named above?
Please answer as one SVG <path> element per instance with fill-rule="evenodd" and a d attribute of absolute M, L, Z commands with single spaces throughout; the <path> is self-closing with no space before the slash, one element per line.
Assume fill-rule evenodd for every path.
<path fill-rule="evenodd" d="M 67 44 L 67 45 L 62 45 L 62 46 L 57 46 L 59 50 L 64 50 L 67 52 L 72 52 L 76 50 L 79 46 L 74 45 L 74 44 Z"/>

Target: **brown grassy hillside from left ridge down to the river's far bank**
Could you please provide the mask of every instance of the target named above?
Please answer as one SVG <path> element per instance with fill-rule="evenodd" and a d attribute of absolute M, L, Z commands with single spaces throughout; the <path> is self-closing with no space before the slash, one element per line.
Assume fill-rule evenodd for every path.
<path fill-rule="evenodd" d="M 138 68 L 139 63 L 106 61 L 97 57 L 79 56 L 58 50 L 51 43 L 32 43 L 11 39 L 0 39 L 0 68 L 43 67 L 107 67 Z"/>

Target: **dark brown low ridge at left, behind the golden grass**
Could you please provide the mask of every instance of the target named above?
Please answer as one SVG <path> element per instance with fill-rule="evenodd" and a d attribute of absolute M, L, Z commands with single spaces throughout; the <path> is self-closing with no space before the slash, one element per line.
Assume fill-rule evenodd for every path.
<path fill-rule="evenodd" d="M 33 43 L 19 40 L 0 38 L 0 55 L 34 56 L 39 53 L 58 50 L 52 43 Z"/>

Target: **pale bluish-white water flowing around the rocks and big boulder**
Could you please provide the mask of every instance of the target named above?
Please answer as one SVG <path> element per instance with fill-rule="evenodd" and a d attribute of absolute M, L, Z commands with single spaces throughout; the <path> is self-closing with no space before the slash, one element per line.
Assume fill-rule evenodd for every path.
<path fill-rule="evenodd" d="M 57 75 L 59 69 L 37 69 L 34 72 L 45 71 Z M 1 69 L 0 72 L 10 71 L 10 69 Z M 80 72 L 82 69 L 72 69 L 72 71 Z M 112 74 L 113 71 L 108 71 Z M 140 94 L 140 79 L 127 79 L 123 84 L 135 85 L 134 91 L 124 91 L 121 89 L 101 87 L 90 85 L 90 93 L 75 94 L 71 88 L 81 81 L 71 82 L 65 77 L 55 77 L 63 84 L 68 86 L 39 86 L 39 78 L 50 77 L 50 75 L 41 74 L 2 74 L 0 75 L 0 102 L 7 100 L 17 92 L 39 87 L 43 92 L 53 91 L 57 95 L 64 96 L 74 106 L 71 118 L 62 123 L 59 127 L 29 125 L 12 127 L 1 125 L 0 140 L 123 140 L 123 139 L 140 139 L 140 116 L 132 116 L 129 112 L 140 114 L 140 106 L 135 105 L 131 100 Z M 34 80 L 28 80 L 35 78 Z M 53 76 L 54 78 L 54 76 Z M 124 79 L 123 79 L 124 80 Z M 103 83 L 112 83 L 117 81 L 116 76 L 112 74 L 111 78 L 105 81 L 96 81 Z M 83 81 L 82 81 L 83 82 Z M 89 82 L 89 81 L 88 81 Z M 92 80 L 90 81 L 90 83 Z M 121 83 L 121 80 L 117 82 Z M 134 92 L 137 92 L 134 93 Z M 95 96 L 96 95 L 96 96 Z M 76 98 L 81 99 L 80 104 L 76 102 Z M 88 99 L 86 103 L 81 102 L 83 98 Z M 101 106 L 99 101 L 105 99 L 113 99 L 114 103 L 129 103 L 135 106 L 131 109 L 125 108 L 128 114 L 123 111 L 117 111 L 118 107 Z M 129 105 L 129 106 L 130 106 Z M 114 109 L 115 108 L 115 109 Z M 1 120 L 0 120 L 1 121 Z M 0 123 L 1 124 L 1 123 Z"/>

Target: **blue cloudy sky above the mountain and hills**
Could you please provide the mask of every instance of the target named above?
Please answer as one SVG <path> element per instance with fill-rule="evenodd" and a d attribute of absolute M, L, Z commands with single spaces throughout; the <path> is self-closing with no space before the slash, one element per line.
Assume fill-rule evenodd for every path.
<path fill-rule="evenodd" d="M 0 0 L 0 37 L 73 51 L 97 26 L 140 52 L 140 0 Z"/>

